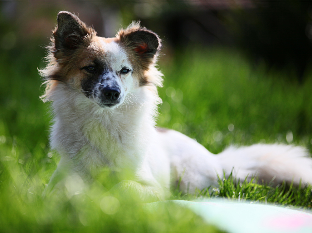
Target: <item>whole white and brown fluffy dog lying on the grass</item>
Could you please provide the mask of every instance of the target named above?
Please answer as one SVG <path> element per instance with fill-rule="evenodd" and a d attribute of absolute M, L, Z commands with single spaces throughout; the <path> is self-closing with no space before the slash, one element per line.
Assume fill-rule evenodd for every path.
<path fill-rule="evenodd" d="M 230 146 L 214 155 L 182 133 L 157 128 L 161 43 L 139 22 L 103 38 L 75 14 L 58 13 L 40 71 L 46 80 L 41 98 L 52 102 L 54 115 L 50 144 L 61 155 L 47 189 L 68 177 L 90 184 L 103 168 L 118 177 L 111 190 L 143 202 L 168 198 L 178 182 L 184 193 L 217 186 L 218 176 L 231 172 L 272 185 L 312 184 L 312 159 L 303 147 Z"/>

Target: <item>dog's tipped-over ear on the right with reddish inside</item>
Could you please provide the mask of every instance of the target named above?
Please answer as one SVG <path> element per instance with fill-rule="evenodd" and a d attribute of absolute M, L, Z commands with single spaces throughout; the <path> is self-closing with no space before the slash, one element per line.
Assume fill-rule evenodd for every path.
<path fill-rule="evenodd" d="M 119 42 L 135 54 L 142 65 L 147 70 L 150 63 L 155 62 L 162 45 L 159 36 L 145 27 L 141 27 L 139 22 L 133 22 L 126 29 L 119 30 L 117 34 Z"/>

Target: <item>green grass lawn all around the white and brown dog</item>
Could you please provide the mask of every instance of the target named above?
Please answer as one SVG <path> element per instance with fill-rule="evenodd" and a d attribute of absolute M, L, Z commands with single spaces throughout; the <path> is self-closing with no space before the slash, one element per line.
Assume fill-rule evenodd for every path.
<path fill-rule="evenodd" d="M 20 52 L 22 51 L 22 52 Z M 43 199 L 59 157 L 49 151 L 51 117 L 39 97 L 43 50 L 31 45 L 0 55 L 0 232 L 115 231 L 219 232 L 177 206 L 155 211 L 104 195 L 95 182 L 87 193 Z M 312 78 L 290 83 L 289 73 L 253 67 L 226 49 L 189 49 L 163 57 L 165 74 L 158 125 L 195 138 L 214 153 L 229 144 L 280 142 L 311 151 Z M 307 73 L 309 76 L 311 72 Z M 311 187 L 296 189 L 220 179 L 220 187 L 196 196 L 173 190 L 172 199 L 224 197 L 311 208 Z M 110 208 L 106 208 L 109 206 Z"/>

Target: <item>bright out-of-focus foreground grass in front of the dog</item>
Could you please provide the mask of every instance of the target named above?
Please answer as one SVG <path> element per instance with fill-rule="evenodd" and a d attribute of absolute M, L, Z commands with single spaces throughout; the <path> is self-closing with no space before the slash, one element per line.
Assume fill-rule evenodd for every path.
<path fill-rule="evenodd" d="M 9 144 L 0 145 L 1 153 Z M 37 173 L 30 174 L 18 159 L 22 151 L 15 148 L 17 157 L 9 151 L 11 156 L 0 156 L 0 232 L 221 232 L 174 204 L 150 209 L 119 203 L 96 181 L 83 192 L 66 189 L 43 198 L 45 172 L 54 168 L 37 160 Z M 55 162 L 53 157 L 50 160 Z"/>

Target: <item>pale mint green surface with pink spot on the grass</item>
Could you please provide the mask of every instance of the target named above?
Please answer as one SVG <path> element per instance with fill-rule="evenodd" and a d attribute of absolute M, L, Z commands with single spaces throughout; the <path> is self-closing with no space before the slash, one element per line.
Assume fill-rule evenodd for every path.
<path fill-rule="evenodd" d="M 312 232 L 312 213 L 266 204 L 225 202 L 222 200 L 173 200 L 147 204 L 148 208 L 175 203 L 191 209 L 207 223 L 229 233 Z"/>

